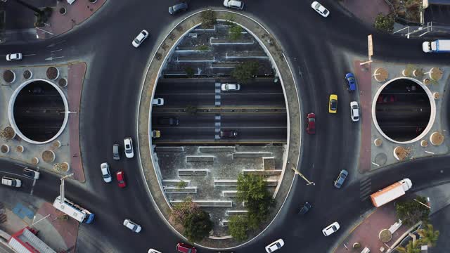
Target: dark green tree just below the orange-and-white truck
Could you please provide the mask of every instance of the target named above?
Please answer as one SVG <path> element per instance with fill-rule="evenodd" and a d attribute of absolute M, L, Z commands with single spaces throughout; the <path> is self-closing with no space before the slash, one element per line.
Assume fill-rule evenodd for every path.
<path fill-rule="evenodd" d="M 419 202 L 425 203 L 427 200 L 425 197 L 416 197 Z M 428 215 L 430 215 L 430 209 L 423 206 L 415 200 L 399 201 L 395 205 L 395 211 L 397 212 L 397 218 L 401 219 L 406 226 L 411 226 L 419 221 L 428 222 Z"/>

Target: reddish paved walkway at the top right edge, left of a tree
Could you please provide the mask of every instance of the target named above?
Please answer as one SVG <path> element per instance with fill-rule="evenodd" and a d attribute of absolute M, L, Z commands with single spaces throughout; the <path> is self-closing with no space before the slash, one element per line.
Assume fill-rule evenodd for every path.
<path fill-rule="evenodd" d="M 342 0 L 338 2 L 356 18 L 371 26 L 378 13 L 386 15 L 391 12 L 385 0 Z"/>

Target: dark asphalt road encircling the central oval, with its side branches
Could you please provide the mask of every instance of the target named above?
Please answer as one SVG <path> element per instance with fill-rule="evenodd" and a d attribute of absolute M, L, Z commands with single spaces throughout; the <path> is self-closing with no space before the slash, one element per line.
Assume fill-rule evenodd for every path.
<path fill-rule="evenodd" d="M 342 51 L 366 56 L 366 36 L 374 35 L 374 60 L 404 63 L 448 63 L 445 54 L 425 54 L 420 50 L 422 40 L 380 34 L 347 13 L 336 1 L 321 1 L 329 10 L 328 18 L 321 18 L 311 10 L 309 1 L 285 0 L 246 1 L 244 13 L 258 17 L 271 30 L 292 63 L 300 88 L 302 113 L 315 112 L 317 134 L 302 136 L 302 157 L 298 168 L 316 186 L 304 186 L 295 179 L 280 215 L 262 236 L 234 252 L 263 252 L 265 245 L 283 238 L 282 252 L 327 252 L 338 242 L 342 231 L 352 226 L 359 214 L 371 209 L 368 200 L 361 201 L 359 185 L 353 174 L 342 190 L 333 188 L 333 180 L 340 169 L 356 168 L 359 150 L 359 124 L 352 124 L 349 110 L 338 109 L 338 115 L 328 114 L 328 96 L 336 93 L 340 105 L 357 100 L 340 84 L 343 75 L 352 70 Z M 0 56 L 15 51 L 24 53 L 20 63 L 1 63 L 1 66 L 44 65 L 55 48 L 63 48 L 61 62 L 92 58 L 86 77 L 89 86 L 82 93 L 80 137 L 86 185 L 68 183 L 70 199 L 96 213 L 92 225 L 81 226 L 78 252 L 146 252 L 149 247 L 161 252 L 174 252 L 181 241 L 160 219 L 143 186 L 137 158 L 113 162 L 111 146 L 124 136 L 136 140 L 136 112 L 142 74 L 155 37 L 167 33 L 176 17 L 167 14 L 165 1 L 111 1 L 95 18 L 78 29 L 49 41 L 26 45 L 4 45 Z M 219 7 L 221 1 L 191 1 L 190 12 L 205 6 Z M 183 15 L 187 15 L 183 14 Z M 120 18 L 126 17 L 126 18 Z M 162 25 L 165 24 L 166 26 Z M 142 29 L 150 32 L 139 49 L 131 47 L 131 39 Z M 58 44 L 57 44 L 58 43 Z M 51 46 L 51 44 L 57 44 Z M 130 64 L 131 63 L 131 64 Z M 129 186 L 118 188 L 101 179 L 99 164 L 110 162 L 113 171 L 124 169 Z M 432 161 L 432 162 L 430 162 Z M 432 164 L 432 165 L 430 165 Z M 410 177 L 414 189 L 424 188 L 448 179 L 446 157 L 432 157 L 399 164 L 371 176 L 373 190 L 394 181 Z M 440 171 L 444 172 L 440 172 Z M 112 171 L 112 172 L 113 172 Z M 46 175 L 44 175 L 46 177 Z M 44 177 L 44 178 L 45 178 Z M 44 180 L 43 178 L 43 180 Z M 34 195 L 53 201 L 58 195 L 58 180 L 42 181 L 34 187 Z M 3 188 L 2 188 L 3 189 Z M 314 207 L 308 216 L 296 212 L 304 201 Z M 122 226 L 125 218 L 143 226 L 139 234 Z M 321 229 L 339 221 L 341 231 L 328 238 Z M 200 249 L 201 252 L 210 252 Z"/>

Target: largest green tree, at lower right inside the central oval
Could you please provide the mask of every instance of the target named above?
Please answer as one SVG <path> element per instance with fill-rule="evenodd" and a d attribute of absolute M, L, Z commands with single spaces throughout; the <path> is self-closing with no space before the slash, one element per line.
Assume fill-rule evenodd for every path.
<path fill-rule="evenodd" d="M 264 176 L 257 174 L 239 174 L 238 200 L 245 202 L 248 209 L 248 226 L 257 228 L 269 216 L 275 200 L 266 188 Z"/>

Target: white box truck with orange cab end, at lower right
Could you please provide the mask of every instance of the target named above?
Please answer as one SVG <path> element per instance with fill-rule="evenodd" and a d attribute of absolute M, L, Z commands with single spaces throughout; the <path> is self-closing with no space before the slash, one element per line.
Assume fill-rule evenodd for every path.
<path fill-rule="evenodd" d="M 397 197 L 405 195 L 406 190 L 411 189 L 412 186 L 413 183 L 410 179 L 401 179 L 400 181 L 392 183 L 392 185 L 387 186 L 382 190 L 378 190 L 378 192 L 376 193 L 373 193 L 371 195 L 372 203 L 375 207 L 381 207 L 387 202 L 391 202 Z"/>

